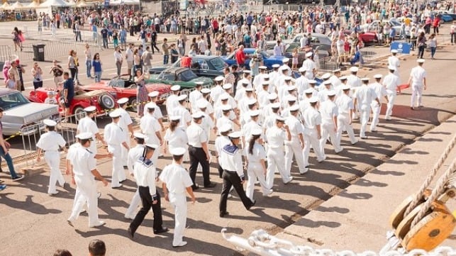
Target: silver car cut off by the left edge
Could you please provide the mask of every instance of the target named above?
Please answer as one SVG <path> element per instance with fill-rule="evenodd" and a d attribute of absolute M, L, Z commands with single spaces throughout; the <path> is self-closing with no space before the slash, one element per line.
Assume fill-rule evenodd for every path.
<path fill-rule="evenodd" d="M 59 117 L 59 109 L 54 104 L 42 104 L 28 101 L 20 91 L 0 89 L 0 107 L 4 109 L 1 118 L 4 135 L 13 135 L 21 131 L 22 135 L 38 132 L 38 127 L 44 128 L 44 119 Z M 40 126 L 36 126 L 40 123 Z"/>

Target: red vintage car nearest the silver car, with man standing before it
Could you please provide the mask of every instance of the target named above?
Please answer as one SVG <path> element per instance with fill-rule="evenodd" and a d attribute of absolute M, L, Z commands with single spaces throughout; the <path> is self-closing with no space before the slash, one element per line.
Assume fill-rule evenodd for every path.
<path fill-rule="evenodd" d="M 43 103 L 45 99 L 48 98 L 48 91 L 55 91 L 50 88 L 38 88 L 36 91 L 30 91 L 28 99 L 32 102 Z M 60 90 L 57 90 L 55 94 L 55 99 L 57 102 L 60 102 Z M 78 121 L 80 118 L 85 116 L 84 108 L 88 106 L 96 106 L 96 115 L 104 116 L 107 111 L 116 107 L 116 100 L 111 94 L 103 90 L 96 91 L 75 91 L 75 95 L 72 101 L 71 106 L 69 106 L 69 113 L 74 115 Z M 59 106 L 59 112 L 61 115 L 65 114 L 65 109 L 62 106 Z"/>

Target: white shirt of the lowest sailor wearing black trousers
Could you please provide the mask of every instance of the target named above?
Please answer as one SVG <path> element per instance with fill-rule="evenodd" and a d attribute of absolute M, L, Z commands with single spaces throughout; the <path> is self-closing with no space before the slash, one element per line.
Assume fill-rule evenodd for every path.
<path fill-rule="evenodd" d="M 149 192 L 152 196 L 157 194 L 157 189 L 155 188 L 157 171 L 155 170 L 155 165 L 153 165 L 152 161 L 145 160 L 143 162 L 143 157 L 140 157 L 136 162 L 135 167 L 133 167 L 133 174 L 135 175 L 138 187 L 149 187 Z"/>

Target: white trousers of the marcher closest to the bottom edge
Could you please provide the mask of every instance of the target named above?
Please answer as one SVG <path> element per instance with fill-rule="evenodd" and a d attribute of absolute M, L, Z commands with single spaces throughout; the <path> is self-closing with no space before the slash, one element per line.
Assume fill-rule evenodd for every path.
<path fill-rule="evenodd" d="M 169 193 L 169 203 L 174 208 L 174 237 L 172 245 L 182 243 L 185 226 L 187 226 L 187 197 L 185 194 Z"/>

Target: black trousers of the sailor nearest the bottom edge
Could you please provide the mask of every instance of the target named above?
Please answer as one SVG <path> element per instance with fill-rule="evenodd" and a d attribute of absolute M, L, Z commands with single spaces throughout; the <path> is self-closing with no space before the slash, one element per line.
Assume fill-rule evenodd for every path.
<path fill-rule="evenodd" d="M 160 204 L 160 194 L 158 194 L 157 191 L 157 204 L 152 204 L 152 195 L 149 192 L 149 187 L 138 187 L 138 190 L 141 201 L 143 201 L 143 208 L 138 211 L 135 219 L 131 222 L 131 232 L 136 232 L 141 223 L 143 223 L 145 216 L 150 211 L 150 208 L 152 208 L 152 211 L 154 213 L 154 230 L 162 229 L 163 219 L 162 208 Z"/>

